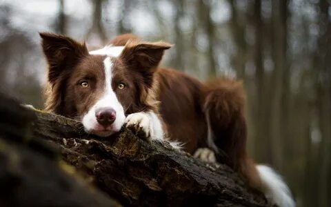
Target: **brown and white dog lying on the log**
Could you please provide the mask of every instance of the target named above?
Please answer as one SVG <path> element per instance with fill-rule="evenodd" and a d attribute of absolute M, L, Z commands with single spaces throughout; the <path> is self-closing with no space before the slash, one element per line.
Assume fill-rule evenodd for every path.
<path fill-rule="evenodd" d="M 164 42 L 123 34 L 99 50 L 69 37 L 41 33 L 48 61 L 46 110 L 74 117 L 86 131 L 108 137 L 123 126 L 150 141 L 170 141 L 197 157 L 237 170 L 273 204 L 294 206 L 290 190 L 268 166 L 257 166 L 245 150 L 245 94 L 241 82 L 201 83 L 159 67 Z M 201 150 L 210 148 L 211 150 Z"/>

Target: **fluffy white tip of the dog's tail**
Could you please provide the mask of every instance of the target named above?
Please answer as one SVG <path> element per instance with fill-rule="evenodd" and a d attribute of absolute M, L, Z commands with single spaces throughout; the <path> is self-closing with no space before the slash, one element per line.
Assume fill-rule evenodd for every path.
<path fill-rule="evenodd" d="M 268 166 L 257 166 L 259 177 L 263 185 L 265 197 L 272 203 L 280 207 L 294 207 L 290 189 L 283 179 L 272 168 Z"/>

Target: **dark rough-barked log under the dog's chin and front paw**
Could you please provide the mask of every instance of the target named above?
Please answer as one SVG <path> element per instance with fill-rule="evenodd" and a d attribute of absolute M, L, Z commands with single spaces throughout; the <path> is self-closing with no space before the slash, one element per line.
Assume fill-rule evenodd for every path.
<path fill-rule="evenodd" d="M 228 166 L 205 164 L 126 128 L 101 139 L 72 119 L 34 113 L 33 137 L 52 142 L 64 161 L 123 206 L 268 206 Z"/>

